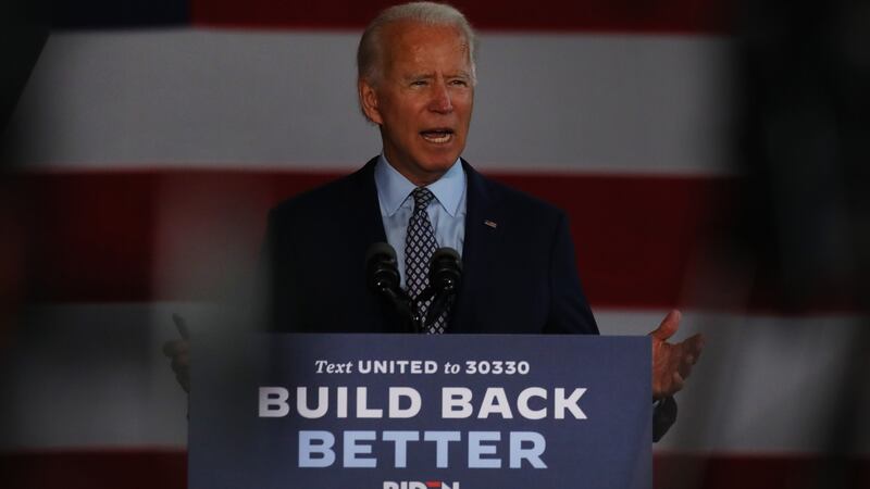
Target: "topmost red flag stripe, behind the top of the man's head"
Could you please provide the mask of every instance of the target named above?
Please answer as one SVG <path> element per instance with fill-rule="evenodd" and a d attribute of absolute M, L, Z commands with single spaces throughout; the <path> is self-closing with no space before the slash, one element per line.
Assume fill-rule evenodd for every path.
<path fill-rule="evenodd" d="M 309 2 L 304 8 L 279 0 L 194 0 L 196 25 L 233 27 L 303 27 L 358 29 L 385 7 L 387 0 Z M 451 2 L 480 28 L 594 30 L 641 33 L 722 33 L 729 28 L 724 0 L 544 0 Z"/>

